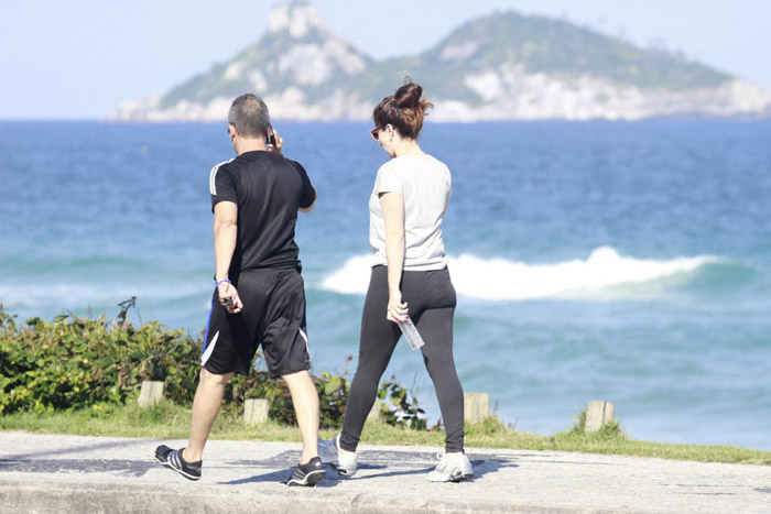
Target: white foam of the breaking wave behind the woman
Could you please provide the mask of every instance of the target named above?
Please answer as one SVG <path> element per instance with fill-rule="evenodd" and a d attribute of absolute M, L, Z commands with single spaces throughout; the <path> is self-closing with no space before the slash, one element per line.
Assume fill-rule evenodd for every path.
<path fill-rule="evenodd" d="M 705 264 L 726 262 L 714 255 L 670 260 L 634 259 L 600 247 L 586 260 L 554 264 L 528 264 L 507 259 L 481 259 L 470 254 L 449 259 L 453 283 L 459 295 L 521 300 L 601 296 L 609 288 L 643 284 L 693 273 Z M 324 278 L 321 287 L 343 294 L 365 294 L 371 256 L 356 255 Z M 615 297 L 623 296 L 616 291 Z"/>

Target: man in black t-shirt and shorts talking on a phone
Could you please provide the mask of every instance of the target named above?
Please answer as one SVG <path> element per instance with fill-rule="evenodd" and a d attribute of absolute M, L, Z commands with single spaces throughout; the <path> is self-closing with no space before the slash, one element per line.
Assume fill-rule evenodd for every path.
<path fill-rule="evenodd" d="M 281 154 L 268 107 L 238 97 L 228 114 L 236 158 L 211 169 L 215 293 L 206 330 L 187 447 L 159 446 L 155 459 L 191 480 L 234 373 L 248 374 L 258 345 L 271 378 L 289 386 L 303 438 L 300 466 L 284 483 L 315 485 L 324 478 L 317 455 L 318 395 L 308 372 L 305 291 L 294 242 L 297 211 L 308 212 L 316 190 L 305 169 Z M 275 139 L 274 139 L 275 138 Z M 276 141 L 278 140 L 278 141 Z"/>

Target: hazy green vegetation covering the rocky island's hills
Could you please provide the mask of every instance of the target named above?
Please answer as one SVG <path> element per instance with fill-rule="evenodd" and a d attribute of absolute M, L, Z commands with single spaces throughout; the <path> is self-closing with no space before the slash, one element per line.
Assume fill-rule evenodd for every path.
<path fill-rule="evenodd" d="M 621 86 L 672 91 L 716 87 L 731 78 L 682 56 L 642 50 L 565 21 L 504 12 L 465 23 L 433 48 L 412 57 L 374 62 L 348 45 L 349 52 L 367 63 L 367 69 L 349 76 L 334 65 L 326 80 L 298 84 L 293 75 L 296 69 L 286 67 L 282 59 L 301 47 L 304 47 L 302 52 L 311 52 L 312 46 L 316 48 L 313 52 L 323 52 L 321 48 L 328 37 L 332 35 L 316 29 L 302 37 L 292 37 L 289 31 L 265 34 L 232 59 L 173 88 L 161 99 L 160 108 L 171 108 L 182 100 L 206 103 L 217 97 L 232 98 L 254 90 L 251 75 L 256 73 L 265 79 L 262 95 L 297 87 L 308 103 L 323 101 L 337 89 L 351 97 L 378 98 L 411 75 L 435 97 L 479 105 L 481 97 L 467 87 L 465 77 L 499 70 L 502 66 L 567 81 L 591 76 Z M 311 58 L 313 52 L 304 58 Z M 232 63 L 238 63 L 241 70 L 226 77 L 225 70 Z M 306 64 L 312 66 L 310 62 Z"/>

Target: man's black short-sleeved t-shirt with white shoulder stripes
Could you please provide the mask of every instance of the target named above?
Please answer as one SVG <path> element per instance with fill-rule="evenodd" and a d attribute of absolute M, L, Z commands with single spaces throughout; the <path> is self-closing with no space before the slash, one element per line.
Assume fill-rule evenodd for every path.
<path fill-rule="evenodd" d="M 300 163 L 271 152 L 245 152 L 211 169 L 209 192 L 211 210 L 220 201 L 238 206 L 231 280 L 248 270 L 300 270 L 300 249 L 294 242 L 297 209 L 315 200 Z"/>

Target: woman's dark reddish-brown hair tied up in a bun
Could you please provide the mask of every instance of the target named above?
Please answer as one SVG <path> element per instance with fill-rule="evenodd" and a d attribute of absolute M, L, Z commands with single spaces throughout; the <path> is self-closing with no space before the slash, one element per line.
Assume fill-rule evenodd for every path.
<path fill-rule="evenodd" d="M 403 138 L 416 139 L 423 128 L 423 117 L 427 116 L 426 110 L 430 107 L 434 105 L 426 100 L 423 88 L 408 77 L 404 86 L 390 97 L 383 98 L 374 108 L 374 127 L 391 123 Z"/>

